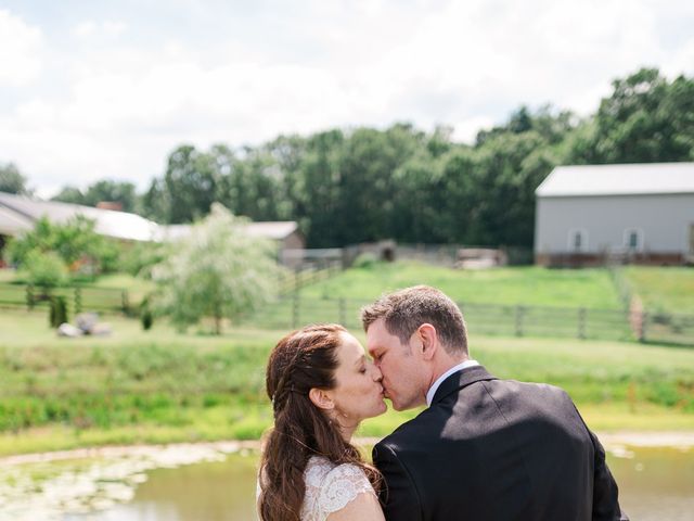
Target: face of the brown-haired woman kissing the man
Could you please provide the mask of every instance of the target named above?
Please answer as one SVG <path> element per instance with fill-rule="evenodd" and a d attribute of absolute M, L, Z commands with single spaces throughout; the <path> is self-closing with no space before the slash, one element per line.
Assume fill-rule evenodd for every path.
<path fill-rule="evenodd" d="M 349 333 L 340 333 L 337 346 L 336 386 L 331 390 L 335 411 L 340 423 L 358 423 L 386 411 L 383 378 L 378 368 L 367 357 L 359 341 Z"/>

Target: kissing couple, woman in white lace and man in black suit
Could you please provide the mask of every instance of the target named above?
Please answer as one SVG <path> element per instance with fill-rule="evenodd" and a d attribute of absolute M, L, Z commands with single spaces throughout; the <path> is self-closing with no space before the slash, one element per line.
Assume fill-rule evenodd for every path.
<path fill-rule="evenodd" d="M 490 374 L 444 293 L 400 290 L 361 319 L 371 358 L 338 325 L 294 331 L 270 355 L 262 521 L 628 519 L 566 392 Z M 426 408 L 377 443 L 370 465 L 351 436 L 386 411 L 384 398 Z"/>

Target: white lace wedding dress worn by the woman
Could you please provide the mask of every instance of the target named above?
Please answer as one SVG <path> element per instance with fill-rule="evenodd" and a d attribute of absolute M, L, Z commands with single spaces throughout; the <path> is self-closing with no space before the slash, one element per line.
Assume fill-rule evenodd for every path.
<path fill-rule="evenodd" d="M 311 456 L 304 471 L 306 495 L 301 521 L 325 521 L 359 494 L 375 492 L 367 474 L 356 465 L 335 465 L 321 456 Z M 258 483 L 258 494 L 260 483 Z"/>

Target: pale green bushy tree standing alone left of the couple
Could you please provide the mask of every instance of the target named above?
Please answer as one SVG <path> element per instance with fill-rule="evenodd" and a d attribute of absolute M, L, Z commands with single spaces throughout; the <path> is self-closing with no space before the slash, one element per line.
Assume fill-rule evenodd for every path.
<path fill-rule="evenodd" d="M 221 333 L 222 319 L 233 319 L 269 301 L 275 292 L 275 246 L 249 237 L 245 219 L 216 203 L 189 238 L 153 270 L 158 309 L 179 328 L 213 317 Z"/>

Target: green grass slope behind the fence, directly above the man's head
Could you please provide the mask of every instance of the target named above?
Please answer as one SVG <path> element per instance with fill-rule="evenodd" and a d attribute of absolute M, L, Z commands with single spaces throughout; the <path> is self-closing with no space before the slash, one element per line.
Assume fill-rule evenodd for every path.
<path fill-rule="evenodd" d="M 510 267 L 460 270 L 414 262 L 378 263 L 344 271 L 303 290 L 309 297 L 372 301 L 414 284 L 439 288 L 460 303 L 619 309 L 605 269 Z"/>

